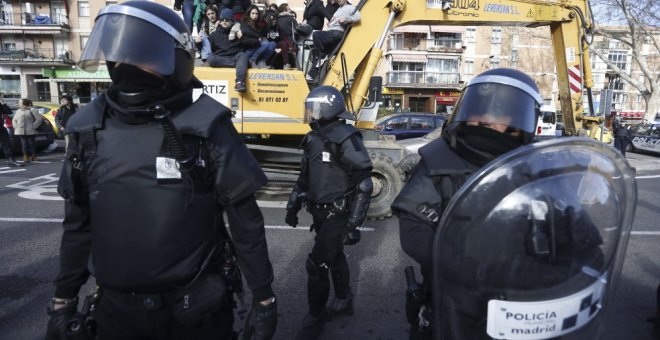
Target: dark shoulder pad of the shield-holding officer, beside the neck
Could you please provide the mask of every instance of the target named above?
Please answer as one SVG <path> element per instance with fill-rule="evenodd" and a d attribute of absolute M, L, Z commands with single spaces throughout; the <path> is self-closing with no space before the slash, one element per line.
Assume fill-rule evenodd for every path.
<path fill-rule="evenodd" d="M 472 173 L 475 166 L 461 158 L 440 137 L 419 149 L 430 176 Z"/>

